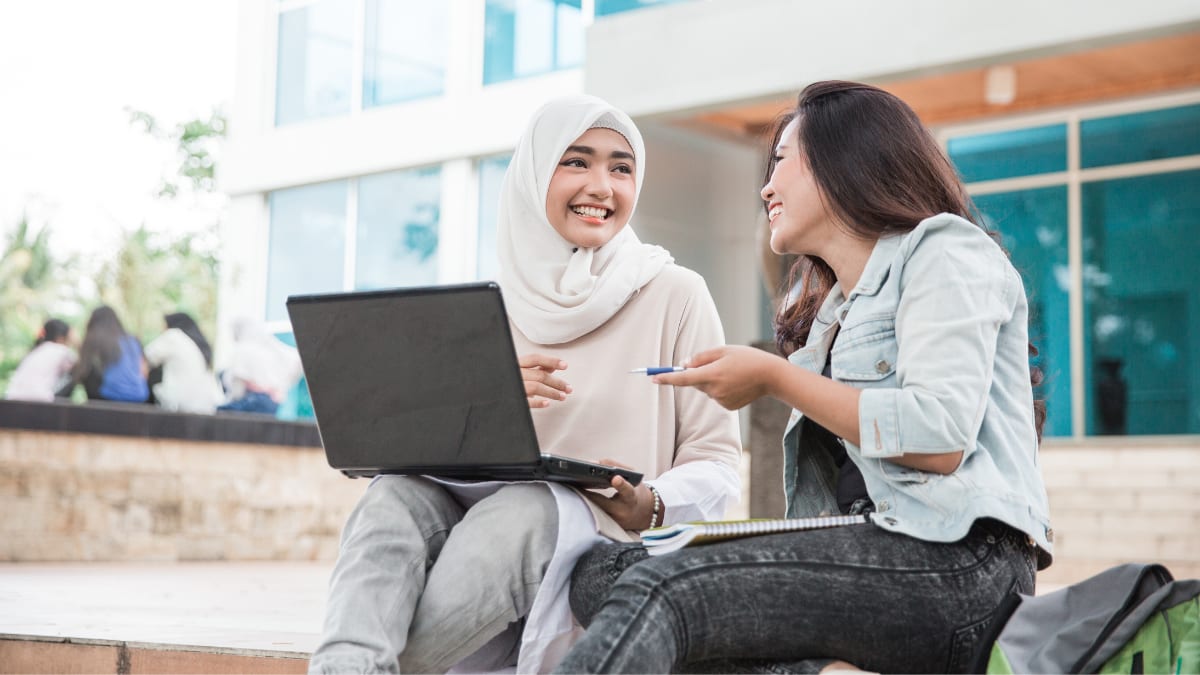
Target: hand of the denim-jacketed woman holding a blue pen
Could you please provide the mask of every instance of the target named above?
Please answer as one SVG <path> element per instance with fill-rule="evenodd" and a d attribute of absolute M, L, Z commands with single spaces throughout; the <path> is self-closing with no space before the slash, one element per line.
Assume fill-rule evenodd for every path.
<path fill-rule="evenodd" d="M 695 387 L 727 410 L 738 410 L 773 393 L 787 362 L 755 347 L 716 347 L 684 363 L 688 370 L 655 375 L 655 384 Z"/>

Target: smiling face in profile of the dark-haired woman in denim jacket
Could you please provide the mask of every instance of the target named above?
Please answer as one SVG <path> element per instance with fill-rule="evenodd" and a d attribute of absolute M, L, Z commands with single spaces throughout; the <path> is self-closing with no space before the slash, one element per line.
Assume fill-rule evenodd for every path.
<path fill-rule="evenodd" d="M 834 221 L 800 151 L 798 131 L 794 119 L 784 127 L 770 180 L 762 187 L 770 221 L 770 250 L 820 256 L 823 244 L 835 235 Z"/>

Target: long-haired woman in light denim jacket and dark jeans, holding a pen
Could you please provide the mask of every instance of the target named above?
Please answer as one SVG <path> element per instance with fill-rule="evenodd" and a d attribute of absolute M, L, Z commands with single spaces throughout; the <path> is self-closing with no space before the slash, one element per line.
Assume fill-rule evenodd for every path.
<path fill-rule="evenodd" d="M 575 573 L 581 620 L 617 580 L 562 671 L 961 671 L 1050 563 L 1028 304 L 949 161 L 907 104 L 847 82 L 808 86 L 775 141 L 770 244 L 800 256 L 776 319 L 787 360 L 720 347 L 655 382 L 787 402 L 787 515 L 870 524 L 596 550 Z"/>

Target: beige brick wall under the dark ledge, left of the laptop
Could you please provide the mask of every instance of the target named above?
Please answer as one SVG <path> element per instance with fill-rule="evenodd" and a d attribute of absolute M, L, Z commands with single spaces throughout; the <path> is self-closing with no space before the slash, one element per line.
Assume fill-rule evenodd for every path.
<path fill-rule="evenodd" d="M 0 429 L 0 561 L 334 560 L 320 448 Z"/>

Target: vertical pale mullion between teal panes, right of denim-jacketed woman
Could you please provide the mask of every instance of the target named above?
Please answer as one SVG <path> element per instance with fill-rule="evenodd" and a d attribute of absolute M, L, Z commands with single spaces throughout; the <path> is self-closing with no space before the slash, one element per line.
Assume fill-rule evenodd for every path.
<path fill-rule="evenodd" d="M 1070 435 L 1082 438 L 1087 431 L 1087 399 L 1084 390 L 1084 205 L 1079 169 L 1079 115 L 1067 119 L 1067 268 L 1070 327 Z"/>

